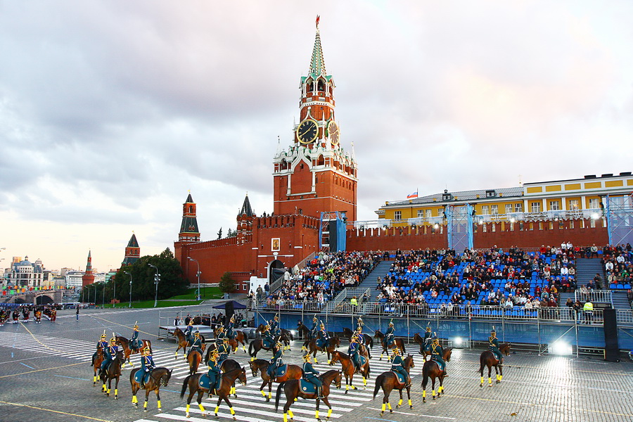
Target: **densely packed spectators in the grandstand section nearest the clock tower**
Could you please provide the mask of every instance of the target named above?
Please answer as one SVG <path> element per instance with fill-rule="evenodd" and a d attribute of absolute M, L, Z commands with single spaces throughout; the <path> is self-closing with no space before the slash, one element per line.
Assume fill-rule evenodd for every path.
<path fill-rule="evenodd" d="M 250 292 L 250 298 L 266 300 L 267 305 L 284 301 L 324 303 L 347 287 L 356 287 L 383 259 L 383 252 L 321 252 L 305 267 L 286 269 L 281 288 L 264 294 Z"/>

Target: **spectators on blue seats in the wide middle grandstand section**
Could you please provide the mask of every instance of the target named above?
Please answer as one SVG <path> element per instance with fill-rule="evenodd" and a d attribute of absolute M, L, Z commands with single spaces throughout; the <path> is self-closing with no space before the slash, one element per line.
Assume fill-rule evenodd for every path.
<path fill-rule="evenodd" d="M 570 243 L 538 252 L 520 248 L 397 251 L 395 261 L 378 280 L 378 303 L 557 307 L 559 293 L 572 292 L 575 249 Z"/>

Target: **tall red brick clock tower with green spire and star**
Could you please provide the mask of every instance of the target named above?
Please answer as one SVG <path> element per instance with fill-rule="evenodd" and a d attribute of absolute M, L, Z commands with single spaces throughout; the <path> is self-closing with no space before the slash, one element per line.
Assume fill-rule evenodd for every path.
<path fill-rule="evenodd" d="M 340 128 L 335 120 L 334 79 L 327 75 L 319 18 L 307 76 L 300 81 L 300 122 L 295 124 L 293 144 L 281 151 L 274 163 L 274 214 L 304 214 L 344 211 L 356 220 L 357 163 L 340 146 Z"/>

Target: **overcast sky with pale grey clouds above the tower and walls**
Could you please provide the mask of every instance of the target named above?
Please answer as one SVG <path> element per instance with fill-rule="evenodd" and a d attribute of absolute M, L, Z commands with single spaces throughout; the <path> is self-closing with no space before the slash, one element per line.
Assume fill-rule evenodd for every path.
<path fill-rule="evenodd" d="M 0 267 L 117 268 L 272 211 L 314 20 L 359 163 L 385 200 L 632 171 L 631 1 L 0 0 Z"/>

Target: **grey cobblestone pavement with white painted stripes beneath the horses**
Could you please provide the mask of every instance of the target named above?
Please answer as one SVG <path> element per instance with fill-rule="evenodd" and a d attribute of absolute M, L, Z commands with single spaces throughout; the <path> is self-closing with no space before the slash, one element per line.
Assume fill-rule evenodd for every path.
<path fill-rule="evenodd" d="M 193 307 L 192 307 L 193 308 Z M 67 313 L 68 312 L 68 313 Z M 0 421 L 207 421 L 202 418 L 196 404 L 191 406 L 191 418 L 185 417 L 184 399 L 179 398 L 182 382 L 188 373 L 184 359 L 174 359 L 176 349 L 169 340 L 157 340 L 158 312 L 153 309 L 82 312 L 79 321 L 70 311 L 60 312 L 55 324 L 43 321 L 35 325 L 7 324 L 0 328 Z M 129 388 L 129 367 L 119 385 L 119 399 L 106 397 L 98 387 L 92 386 L 89 367 L 96 341 L 106 329 L 108 338 L 113 331 L 130 335 L 134 321 L 141 326 L 140 338 L 153 341 L 154 360 L 158 366 L 173 369 L 167 387 L 161 388 L 162 413 L 156 409 L 155 395 L 151 395 L 148 413 L 142 404 L 132 407 Z M 442 333 L 438 333 L 442 335 Z M 340 350 L 346 352 L 347 342 Z M 301 364 L 300 343 L 286 352 L 286 363 Z M 408 345 L 407 351 L 417 352 L 418 345 Z M 454 350 L 447 364 L 449 377 L 445 380 L 445 394 L 433 400 L 428 386 L 426 403 L 422 402 L 422 358 L 415 354 L 416 366 L 412 369 L 411 398 L 414 409 L 407 405 L 396 409 L 397 392 L 392 392 L 390 403 L 393 413 L 381 416 L 382 392 L 373 399 L 374 380 L 390 364 L 378 361 L 380 350 L 373 348 L 371 375 L 366 390 L 331 392 L 333 413 L 331 420 L 340 421 L 410 421 L 424 418 L 433 421 L 632 421 L 633 420 L 633 363 L 602 362 L 598 358 L 538 356 L 517 353 L 506 357 L 504 378 L 501 383 L 486 383 L 480 388 L 478 373 L 481 350 Z M 269 359 L 267 352 L 260 356 Z M 234 355 L 248 366 L 250 358 L 241 349 Z M 325 355 L 317 354 L 319 371 L 331 369 Z M 139 355 L 134 357 L 139 367 Z M 335 368 L 340 369 L 337 364 Z M 203 371 L 204 369 L 200 369 Z M 231 399 L 238 421 L 282 421 L 282 410 L 265 402 L 260 392 L 261 380 L 253 378 L 250 370 L 248 383 L 238 386 L 236 399 Z M 487 378 L 487 373 L 485 373 Z M 492 374 L 494 381 L 494 372 Z M 362 378 L 354 378 L 354 385 L 362 387 Z M 437 390 L 437 385 L 436 385 Z M 139 393 L 143 402 L 143 394 Z M 205 398 L 207 412 L 212 412 L 217 399 Z M 280 408 L 283 405 L 283 398 Z M 295 421 L 314 421 L 314 401 L 299 400 L 291 408 Z M 321 405 L 321 417 L 326 416 Z M 219 420 L 231 420 L 229 409 L 222 404 Z"/>

